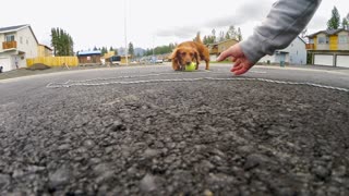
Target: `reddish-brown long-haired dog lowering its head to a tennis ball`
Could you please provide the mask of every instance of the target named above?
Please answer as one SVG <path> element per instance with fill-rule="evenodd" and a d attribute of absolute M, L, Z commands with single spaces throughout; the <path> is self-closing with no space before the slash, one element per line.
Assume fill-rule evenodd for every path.
<path fill-rule="evenodd" d="M 185 65 L 190 65 L 192 62 L 196 63 L 195 70 L 197 70 L 202 60 L 206 62 L 205 70 L 209 70 L 209 51 L 201 41 L 200 34 L 196 35 L 194 41 L 184 41 L 178 45 L 169 59 L 172 61 L 174 71 L 183 71 Z"/>

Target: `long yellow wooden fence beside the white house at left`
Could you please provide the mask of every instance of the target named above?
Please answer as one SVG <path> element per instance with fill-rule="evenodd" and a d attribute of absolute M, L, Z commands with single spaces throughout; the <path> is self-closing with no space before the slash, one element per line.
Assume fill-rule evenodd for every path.
<path fill-rule="evenodd" d="M 38 57 L 38 58 L 26 60 L 26 65 L 28 68 L 36 63 L 43 63 L 48 66 L 62 66 L 62 65 L 77 66 L 79 59 L 77 57 Z"/>

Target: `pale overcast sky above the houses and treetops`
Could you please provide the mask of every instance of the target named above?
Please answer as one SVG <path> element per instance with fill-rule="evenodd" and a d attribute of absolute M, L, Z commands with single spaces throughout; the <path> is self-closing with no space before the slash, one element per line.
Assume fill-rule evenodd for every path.
<path fill-rule="evenodd" d="M 16 0 L 1 2 L 0 27 L 29 24 L 41 44 L 50 45 L 51 27 L 69 33 L 75 50 L 96 47 L 134 47 L 181 42 L 202 35 L 241 28 L 243 38 L 268 13 L 275 0 Z M 323 0 L 308 26 L 308 33 L 326 28 L 330 11 L 337 7 L 341 17 L 349 13 L 348 0 Z"/>

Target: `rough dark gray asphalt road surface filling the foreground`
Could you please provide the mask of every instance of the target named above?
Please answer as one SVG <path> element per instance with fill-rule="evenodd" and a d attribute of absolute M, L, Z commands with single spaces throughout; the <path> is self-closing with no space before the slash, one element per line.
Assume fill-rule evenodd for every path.
<path fill-rule="evenodd" d="M 229 69 L 3 81 L 0 195 L 349 195 L 349 74 Z"/>

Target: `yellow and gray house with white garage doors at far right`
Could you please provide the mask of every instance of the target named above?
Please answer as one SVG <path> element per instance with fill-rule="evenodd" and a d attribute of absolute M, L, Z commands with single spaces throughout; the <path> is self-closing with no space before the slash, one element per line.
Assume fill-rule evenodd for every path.
<path fill-rule="evenodd" d="M 349 30 L 327 29 L 309 35 L 310 63 L 349 68 Z"/>

